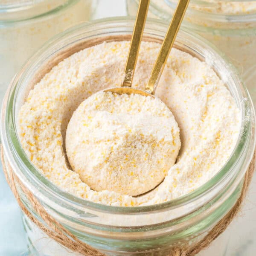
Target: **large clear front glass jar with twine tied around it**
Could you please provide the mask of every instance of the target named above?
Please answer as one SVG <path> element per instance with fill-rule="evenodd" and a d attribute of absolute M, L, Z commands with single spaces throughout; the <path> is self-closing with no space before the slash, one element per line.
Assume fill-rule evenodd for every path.
<path fill-rule="evenodd" d="M 81 241 L 111 256 L 167 255 L 174 246 L 188 241 L 195 244 L 203 239 L 233 207 L 239 198 L 255 147 L 255 113 L 250 96 L 233 66 L 209 47 L 207 41 L 181 29 L 175 47 L 212 66 L 233 95 L 243 122 L 239 141 L 225 166 L 188 195 L 143 207 L 114 207 L 77 198 L 50 183 L 35 169 L 17 137 L 18 111 L 43 72 L 48 72 L 67 56 L 86 47 L 103 41 L 129 40 L 133 26 L 134 20 L 125 17 L 96 20 L 76 26 L 44 44 L 17 73 L 6 92 L 1 113 L 1 141 L 4 161 L 9 163 L 5 165 L 7 171 L 11 166 L 47 212 Z M 143 40 L 161 42 L 166 27 L 166 23 L 160 20 L 148 20 Z M 20 192 L 20 198 L 35 218 L 40 219 L 26 195 Z M 32 255 L 79 255 L 49 239 L 26 216 L 23 216 L 23 221 Z M 219 252 L 223 250 L 218 248 Z"/>

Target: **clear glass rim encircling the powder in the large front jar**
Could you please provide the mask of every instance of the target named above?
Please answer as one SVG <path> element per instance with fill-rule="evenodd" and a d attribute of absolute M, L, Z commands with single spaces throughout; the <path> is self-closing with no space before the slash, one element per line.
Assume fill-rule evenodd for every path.
<path fill-rule="evenodd" d="M 188 202 L 195 201 L 196 198 L 205 195 L 205 193 L 211 191 L 212 189 L 215 188 L 215 186 L 223 182 L 223 180 L 227 178 L 227 176 L 229 176 L 230 179 L 236 176 L 234 168 L 236 167 L 237 163 L 239 162 L 239 160 L 241 160 L 241 157 L 246 156 L 247 160 L 249 159 L 248 163 L 246 164 L 249 165 L 250 160 L 252 159 L 253 156 L 253 151 L 249 152 L 249 148 L 254 148 L 256 143 L 254 134 L 253 140 L 250 139 L 250 136 L 252 136 L 251 130 L 255 123 L 254 109 L 250 101 L 250 96 L 247 90 L 245 89 L 244 84 L 239 79 L 237 71 L 233 66 L 231 66 L 230 64 L 228 64 L 227 61 L 224 60 L 220 52 L 218 52 L 218 50 L 215 47 L 213 47 L 212 45 L 210 45 L 209 47 L 209 42 L 205 41 L 200 36 L 189 32 L 186 29 L 181 29 L 180 34 L 186 35 L 187 37 L 189 37 L 190 40 L 201 42 L 201 44 L 204 45 L 205 49 L 207 49 L 206 54 L 214 54 L 213 56 L 219 58 L 218 64 L 221 65 L 224 69 L 229 70 L 228 73 L 230 75 L 230 79 L 236 81 L 236 85 L 240 88 L 236 88 L 236 90 L 240 90 L 239 102 L 237 103 L 240 104 L 240 108 L 243 115 L 243 122 L 241 124 L 239 140 L 236 144 L 236 147 L 233 150 L 233 153 L 231 154 L 230 158 L 227 160 L 225 165 L 219 170 L 219 172 L 210 180 L 208 180 L 207 183 L 205 183 L 203 186 L 200 186 L 198 189 L 195 189 L 193 192 L 183 195 L 180 198 L 176 198 L 161 204 L 139 207 L 116 207 L 111 205 L 95 203 L 93 201 L 78 198 L 74 195 L 64 192 L 61 188 L 51 183 L 46 177 L 44 177 L 44 175 L 42 175 L 41 172 L 39 172 L 39 170 L 37 170 L 30 162 L 29 158 L 27 157 L 25 151 L 23 150 L 20 144 L 17 135 L 17 128 L 15 125 L 15 97 L 17 96 L 17 92 L 19 90 L 18 86 L 22 84 L 26 72 L 28 72 L 29 69 L 32 69 L 33 67 L 38 65 L 38 59 L 40 59 L 44 52 L 46 52 L 47 49 L 51 47 L 53 47 L 52 49 L 55 49 L 55 51 L 57 51 L 57 48 L 54 48 L 54 46 L 60 47 L 59 42 L 61 41 L 61 39 L 67 38 L 68 36 L 72 37 L 73 40 L 76 40 L 77 38 L 74 36 L 74 32 L 76 32 L 77 35 L 80 36 L 81 34 L 79 34 L 79 31 L 82 29 L 89 28 L 92 31 L 94 31 L 94 26 L 103 26 L 107 28 L 109 31 L 111 31 L 111 29 L 117 29 L 118 26 L 122 27 L 121 25 L 123 24 L 125 24 L 125 27 L 129 29 L 129 33 L 131 34 L 133 30 L 134 19 L 129 17 L 111 17 L 100 20 L 94 20 L 90 24 L 82 23 L 78 26 L 66 30 L 65 32 L 62 32 L 61 34 L 49 40 L 46 44 L 44 44 L 43 47 L 41 47 L 41 49 L 38 50 L 38 52 L 35 53 L 35 55 L 33 55 L 29 59 L 29 61 L 27 61 L 27 63 L 23 66 L 20 72 L 15 76 L 13 83 L 10 84 L 10 87 L 6 92 L 5 99 L 3 102 L 0 124 L 0 133 L 3 148 L 6 153 L 6 157 L 9 160 L 12 159 L 12 161 L 9 161 L 10 163 L 14 163 L 15 161 L 17 163 L 17 161 L 19 161 L 19 164 L 21 164 L 21 166 L 23 167 L 22 169 L 19 168 L 16 175 L 21 180 L 24 180 L 24 178 L 26 178 L 27 180 L 29 180 L 31 184 L 33 184 L 33 186 L 35 186 L 36 184 L 36 186 L 40 187 L 40 189 L 44 189 L 45 191 L 47 190 L 46 193 L 50 198 L 61 199 L 67 201 L 72 205 L 76 205 L 77 207 L 87 207 L 90 209 L 98 209 L 105 212 L 125 214 L 134 214 L 137 212 L 154 212 L 156 210 L 158 211 L 176 208 L 177 206 L 180 207 L 184 204 L 187 204 Z M 161 29 L 166 29 L 168 26 L 167 23 L 157 19 L 148 19 L 145 29 L 147 29 L 148 25 L 159 26 L 161 27 Z M 180 40 L 179 38 L 181 37 L 178 35 L 177 40 Z"/>

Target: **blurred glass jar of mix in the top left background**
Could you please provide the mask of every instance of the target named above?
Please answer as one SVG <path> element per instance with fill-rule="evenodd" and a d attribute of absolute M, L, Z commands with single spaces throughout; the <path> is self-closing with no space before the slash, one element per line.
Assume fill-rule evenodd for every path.
<path fill-rule="evenodd" d="M 92 0 L 0 1 L 0 102 L 27 58 L 53 35 L 89 20 L 92 5 Z"/>

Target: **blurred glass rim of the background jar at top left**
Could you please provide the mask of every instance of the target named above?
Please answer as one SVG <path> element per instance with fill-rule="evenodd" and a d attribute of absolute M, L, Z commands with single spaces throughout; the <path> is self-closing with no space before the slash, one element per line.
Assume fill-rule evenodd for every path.
<path fill-rule="evenodd" d="M 79 0 L 13 0 L 0 4 L 0 27 L 40 20 L 75 4 Z"/>

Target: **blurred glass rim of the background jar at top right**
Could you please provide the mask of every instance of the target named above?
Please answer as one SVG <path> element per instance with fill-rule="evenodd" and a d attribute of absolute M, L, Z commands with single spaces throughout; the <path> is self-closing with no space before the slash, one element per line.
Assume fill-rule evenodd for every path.
<path fill-rule="evenodd" d="M 135 0 L 138 3 L 138 0 Z M 166 3 L 166 6 L 169 6 L 171 9 L 171 12 L 169 10 L 161 8 L 157 3 L 154 3 L 151 1 L 151 12 L 153 12 L 155 15 L 159 17 L 163 17 L 164 19 L 170 19 L 172 16 L 172 13 L 174 12 L 177 1 L 176 0 L 161 0 Z M 217 2 L 217 1 L 216 1 Z M 241 0 L 220 0 L 218 2 L 242 2 Z M 255 2 L 255 0 L 248 0 L 248 2 Z M 256 21 L 256 11 L 251 13 L 237 13 L 237 14 L 223 14 L 223 13 L 214 13 L 214 12 L 206 12 L 203 10 L 198 10 L 191 5 L 198 7 L 204 7 L 205 3 L 209 2 L 206 0 L 192 0 L 190 5 L 188 6 L 188 9 L 186 11 L 186 16 L 188 20 L 190 18 L 200 20 L 201 22 L 211 22 L 211 23 L 248 23 L 248 22 L 255 22 Z M 214 2 L 211 1 L 211 6 L 214 6 Z M 186 18 L 184 19 L 184 23 L 187 23 L 188 20 Z"/>

